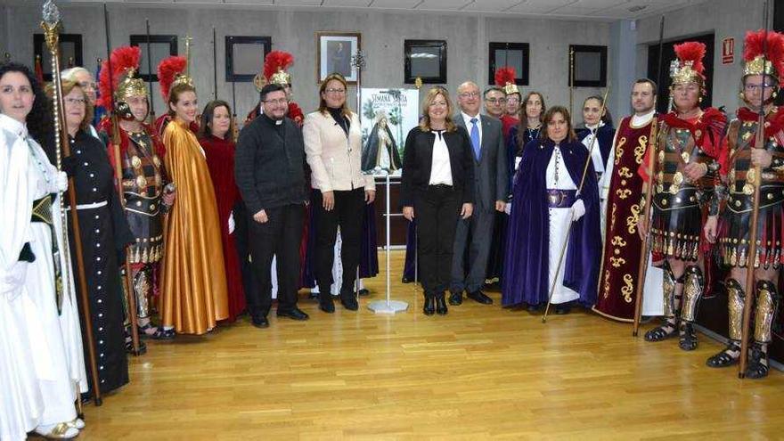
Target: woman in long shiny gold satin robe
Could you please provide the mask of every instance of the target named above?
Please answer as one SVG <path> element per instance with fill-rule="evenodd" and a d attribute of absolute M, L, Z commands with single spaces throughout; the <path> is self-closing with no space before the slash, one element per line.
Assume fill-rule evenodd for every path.
<path fill-rule="evenodd" d="M 184 68 L 181 57 L 172 58 L 159 66 L 171 117 L 163 131 L 164 162 L 176 185 L 176 201 L 166 221 L 160 339 L 172 339 L 175 333 L 204 334 L 228 317 L 225 269 L 216 265 L 224 259 L 219 229 L 228 225 L 219 225 L 204 151 L 189 128 L 197 116 L 196 89 L 191 78 L 179 73 L 184 69 L 167 75 L 167 70 L 177 70 L 173 64 Z"/>

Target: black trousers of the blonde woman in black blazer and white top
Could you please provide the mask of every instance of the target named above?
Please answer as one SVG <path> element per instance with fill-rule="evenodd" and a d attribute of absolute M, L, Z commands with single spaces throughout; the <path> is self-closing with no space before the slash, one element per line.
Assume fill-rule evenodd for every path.
<path fill-rule="evenodd" d="M 414 203 L 421 281 L 426 295 L 442 293 L 449 287 L 454 231 L 461 205 L 460 194 L 449 185 L 429 185 Z"/>

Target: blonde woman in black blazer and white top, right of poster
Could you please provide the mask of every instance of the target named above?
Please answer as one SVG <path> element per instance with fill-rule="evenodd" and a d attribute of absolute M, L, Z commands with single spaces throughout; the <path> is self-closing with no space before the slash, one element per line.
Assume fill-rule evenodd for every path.
<path fill-rule="evenodd" d="M 466 219 L 473 211 L 474 164 L 469 135 L 453 123 L 445 88 L 429 90 L 422 114 L 405 139 L 403 216 L 409 221 L 417 216 L 423 312 L 446 314 L 454 231 L 458 216 Z"/>

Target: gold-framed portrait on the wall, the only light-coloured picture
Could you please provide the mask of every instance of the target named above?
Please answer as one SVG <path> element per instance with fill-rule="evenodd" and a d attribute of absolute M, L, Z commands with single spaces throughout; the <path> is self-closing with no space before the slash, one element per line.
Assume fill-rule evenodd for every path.
<path fill-rule="evenodd" d="M 339 73 L 350 85 L 355 85 L 359 73 L 352 65 L 352 57 L 362 49 L 359 32 L 316 32 L 316 82 L 321 83 L 331 73 Z"/>

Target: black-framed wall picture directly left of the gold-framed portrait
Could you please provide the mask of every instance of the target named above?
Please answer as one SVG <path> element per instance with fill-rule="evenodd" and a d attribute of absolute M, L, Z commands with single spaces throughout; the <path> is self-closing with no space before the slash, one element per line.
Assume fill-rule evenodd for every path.
<path fill-rule="evenodd" d="M 253 81 L 272 47 L 273 37 L 226 36 L 226 81 Z"/>

